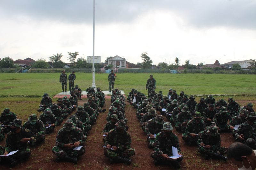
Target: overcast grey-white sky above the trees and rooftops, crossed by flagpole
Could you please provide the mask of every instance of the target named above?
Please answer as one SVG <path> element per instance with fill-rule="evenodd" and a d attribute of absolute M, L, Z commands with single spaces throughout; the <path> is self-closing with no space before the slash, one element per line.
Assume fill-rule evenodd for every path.
<path fill-rule="evenodd" d="M 95 55 L 153 64 L 256 59 L 255 0 L 96 0 Z M 0 0 L 0 58 L 92 55 L 93 0 Z"/>

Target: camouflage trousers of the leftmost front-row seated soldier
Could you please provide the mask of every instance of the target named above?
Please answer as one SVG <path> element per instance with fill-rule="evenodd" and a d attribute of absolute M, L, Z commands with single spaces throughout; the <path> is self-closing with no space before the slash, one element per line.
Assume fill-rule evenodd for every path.
<path fill-rule="evenodd" d="M 15 151 L 15 150 L 13 150 Z M 0 155 L 3 155 L 4 154 L 4 147 L 3 146 L 0 146 Z M 13 158 L 13 159 L 20 159 L 20 160 L 28 160 L 28 158 L 30 157 L 30 154 L 31 154 L 31 151 L 30 149 L 19 149 L 18 152 L 14 153 L 13 155 L 10 155 L 9 157 L 10 158 Z M 2 160 L 4 159 L 4 157 L 1 157 Z"/>

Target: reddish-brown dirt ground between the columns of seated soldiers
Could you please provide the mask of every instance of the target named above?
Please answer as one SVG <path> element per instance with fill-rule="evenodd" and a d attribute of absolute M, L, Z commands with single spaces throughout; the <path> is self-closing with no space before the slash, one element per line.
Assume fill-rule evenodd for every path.
<path fill-rule="evenodd" d="M 83 105 L 85 101 L 87 100 L 79 100 L 79 105 Z M 239 101 L 239 103 L 240 102 L 241 101 Z M 241 103 L 246 102 L 243 101 Z M 103 108 L 106 108 L 108 110 L 109 106 L 110 100 L 106 99 L 106 104 Z M 140 123 L 135 116 L 136 110 L 131 105 L 129 105 L 128 102 L 126 104 L 125 114 L 126 118 L 128 119 L 128 132 L 131 134 L 132 137 L 132 148 L 135 149 L 136 154 L 131 157 L 131 165 L 121 163 L 111 164 L 108 158 L 104 156 L 102 149 L 102 146 L 104 145 L 102 140 L 102 130 L 107 122 L 107 113 L 108 111 L 106 111 L 105 113 L 100 113 L 100 115 L 98 116 L 97 123 L 93 125 L 92 130 L 89 132 L 87 141 L 84 144 L 84 146 L 86 147 L 85 154 L 79 158 L 78 164 L 75 165 L 69 162 L 56 162 L 56 156 L 52 153 L 52 147 L 55 146 L 56 135 L 58 130 L 62 127 L 62 123 L 62 125 L 58 126 L 52 134 L 46 136 L 46 142 L 44 144 L 41 144 L 36 148 L 31 149 L 31 157 L 28 161 L 21 162 L 18 166 L 12 169 L 172 169 L 172 167 L 164 165 L 154 165 L 153 159 L 150 156 L 152 149 L 148 149 L 146 136 L 141 130 Z M 196 146 L 187 146 L 185 144 L 185 142 L 181 138 L 181 132 L 177 132 L 175 129 L 173 130 L 173 132 L 179 137 L 181 152 L 184 155 L 184 159 L 181 162 L 180 169 L 237 169 L 236 166 L 232 165 L 229 161 L 223 162 L 214 159 L 205 160 L 203 156 L 198 154 Z M 233 142 L 235 142 L 235 140 L 230 133 L 221 133 L 222 146 L 228 147 Z M 5 140 L 2 141 L 0 145 L 5 145 Z M 7 170 L 9 169 L 9 167 L 6 165 L 1 165 L 0 169 Z"/>

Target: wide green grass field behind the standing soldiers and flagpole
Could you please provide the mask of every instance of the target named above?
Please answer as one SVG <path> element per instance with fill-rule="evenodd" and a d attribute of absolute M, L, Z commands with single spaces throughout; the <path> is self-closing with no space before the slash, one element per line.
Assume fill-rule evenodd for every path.
<path fill-rule="evenodd" d="M 69 73 L 67 73 L 68 75 Z M 60 73 L 1 73 L 0 95 L 43 95 L 51 96 L 61 92 L 59 83 Z M 108 90 L 108 74 L 95 74 L 95 84 L 101 90 Z M 128 94 L 132 88 L 145 94 L 146 73 L 117 74 L 115 88 L 124 90 Z M 183 90 L 186 94 L 256 94 L 256 75 L 243 74 L 168 74 L 155 73 L 156 90 L 165 93 L 169 88 Z M 92 85 L 92 74 L 76 73 L 75 84 L 82 90 Z"/>

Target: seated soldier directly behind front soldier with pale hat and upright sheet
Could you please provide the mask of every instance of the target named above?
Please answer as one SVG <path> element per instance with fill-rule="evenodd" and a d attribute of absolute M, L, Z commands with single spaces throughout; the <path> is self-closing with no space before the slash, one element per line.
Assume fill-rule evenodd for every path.
<path fill-rule="evenodd" d="M 145 126 L 145 134 L 147 135 L 148 148 L 152 148 L 155 141 L 155 134 L 161 132 L 163 129 L 164 117 L 157 115 L 153 119 L 150 119 Z"/>

